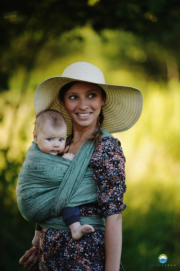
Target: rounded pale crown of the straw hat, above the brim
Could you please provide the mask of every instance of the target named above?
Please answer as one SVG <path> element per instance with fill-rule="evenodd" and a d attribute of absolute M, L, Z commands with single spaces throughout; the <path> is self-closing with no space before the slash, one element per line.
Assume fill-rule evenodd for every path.
<path fill-rule="evenodd" d="M 77 62 L 68 66 L 61 77 L 87 81 L 95 84 L 105 84 L 101 70 L 88 62 Z"/>

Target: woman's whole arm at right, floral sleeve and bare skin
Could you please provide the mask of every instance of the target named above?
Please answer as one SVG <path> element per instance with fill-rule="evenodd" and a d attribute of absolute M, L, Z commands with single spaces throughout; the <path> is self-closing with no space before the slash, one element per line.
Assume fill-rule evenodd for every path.
<path fill-rule="evenodd" d="M 97 184 L 97 200 L 106 218 L 105 271 L 119 271 L 122 249 L 122 211 L 125 185 L 125 157 L 119 140 L 101 139 L 91 158 Z"/>

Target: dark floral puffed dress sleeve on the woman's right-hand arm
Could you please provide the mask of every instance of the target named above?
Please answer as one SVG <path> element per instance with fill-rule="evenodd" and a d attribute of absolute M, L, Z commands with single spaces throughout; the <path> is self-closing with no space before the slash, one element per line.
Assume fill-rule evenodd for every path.
<path fill-rule="evenodd" d="M 122 213 L 126 208 L 125 156 L 119 140 L 109 136 L 101 139 L 89 167 L 94 169 L 97 200 L 104 217 Z"/>

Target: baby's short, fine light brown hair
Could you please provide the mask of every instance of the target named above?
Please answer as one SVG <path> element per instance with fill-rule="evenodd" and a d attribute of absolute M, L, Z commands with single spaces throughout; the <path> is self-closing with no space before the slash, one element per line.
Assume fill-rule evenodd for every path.
<path fill-rule="evenodd" d="M 46 109 L 36 117 L 35 131 L 37 131 L 37 129 L 42 129 L 46 122 L 48 122 L 55 130 L 66 126 L 66 120 L 58 111 Z"/>

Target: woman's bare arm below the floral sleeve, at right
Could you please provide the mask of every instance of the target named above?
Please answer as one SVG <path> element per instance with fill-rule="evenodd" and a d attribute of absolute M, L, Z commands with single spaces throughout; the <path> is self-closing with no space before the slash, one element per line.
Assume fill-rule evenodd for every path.
<path fill-rule="evenodd" d="M 107 216 L 105 226 L 105 271 L 119 271 L 122 249 L 122 214 Z"/>

